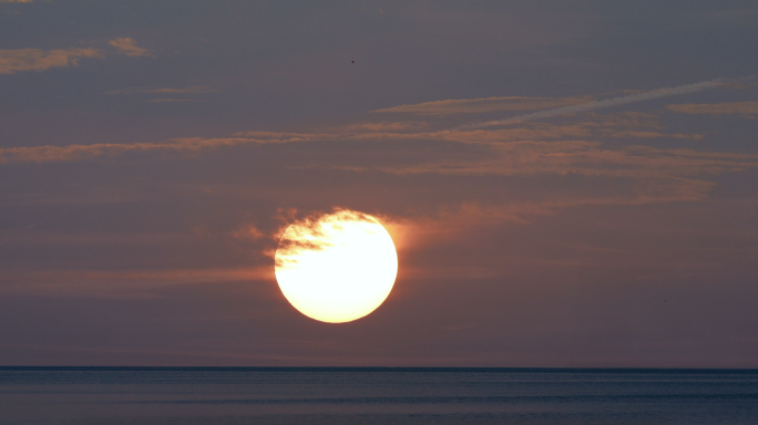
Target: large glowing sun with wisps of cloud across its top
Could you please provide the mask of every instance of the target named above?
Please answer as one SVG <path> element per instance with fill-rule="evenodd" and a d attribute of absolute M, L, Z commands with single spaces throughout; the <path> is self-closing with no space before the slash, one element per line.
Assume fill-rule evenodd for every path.
<path fill-rule="evenodd" d="M 376 218 L 347 209 L 291 224 L 276 249 L 276 281 L 303 314 L 328 323 L 360 319 L 387 299 L 398 252 Z"/>

